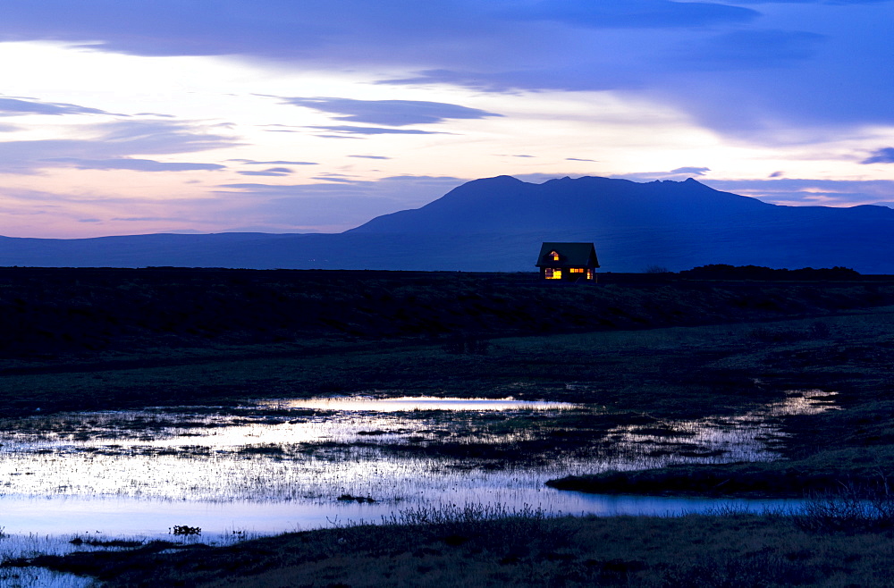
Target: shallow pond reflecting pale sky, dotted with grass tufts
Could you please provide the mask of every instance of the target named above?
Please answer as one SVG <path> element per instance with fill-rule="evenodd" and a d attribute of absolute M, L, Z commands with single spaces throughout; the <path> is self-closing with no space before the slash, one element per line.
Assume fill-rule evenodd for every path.
<path fill-rule="evenodd" d="M 717 501 L 588 495 L 544 482 L 777 458 L 781 416 L 836 408 L 834 393 L 790 391 L 746 415 L 697 421 L 616 418 L 557 402 L 372 397 L 8 419 L 0 422 L 0 558 L 29 552 L 38 536 L 65 539 L 54 548 L 64 550 L 72 535 L 171 539 L 174 526 L 189 525 L 202 541 L 224 542 L 443 503 L 555 514 L 699 510 Z"/>

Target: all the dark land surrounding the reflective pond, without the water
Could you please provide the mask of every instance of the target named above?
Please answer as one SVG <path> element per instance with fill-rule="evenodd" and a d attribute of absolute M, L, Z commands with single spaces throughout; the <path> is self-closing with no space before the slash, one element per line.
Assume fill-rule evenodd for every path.
<path fill-rule="evenodd" d="M 556 483 L 599 492 L 803 496 L 849 488 L 877 496 L 894 482 L 894 280 L 600 278 L 598 286 L 569 286 L 528 274 L 3 269 L 0 410 L 17 418 L 38 409 L 359 392 L 605 407 L 598 418 L 499 424 L 532 432 L 527 446 L 499 454 L 487 455 L 496 449 L 486 444 L 416 449 L 510 460 L 597 450 L 618 424 L 662 433 L 674 419 L 743 414 L 789 390 L 836 391 L 841 410 L 784 417 L 789 437 L 776 462 Z M 437 524 L 177 553 L 150 544 L 40 563 L 119 585 L 892 582 L 888 519 L 524 515 L 453 513 Z M 409 522 L 420 521 L 393 521 Z"/>

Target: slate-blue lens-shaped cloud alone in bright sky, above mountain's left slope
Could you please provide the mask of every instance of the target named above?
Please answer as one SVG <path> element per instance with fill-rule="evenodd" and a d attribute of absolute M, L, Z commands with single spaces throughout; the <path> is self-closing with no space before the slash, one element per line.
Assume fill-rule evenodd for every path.
<path fill-rule="evenodd" d="M 450 119 L 482 119 L 502 114 L 488 113 L 443 102 L 419 100 L 354 100 L 351 98 L 283 98 L 283 102 L 312 108 L 322 113 L 334 113 L 333 118 L 345 122 L 365 122 L 402 127 L 409 124 L 434 124 Z"/>

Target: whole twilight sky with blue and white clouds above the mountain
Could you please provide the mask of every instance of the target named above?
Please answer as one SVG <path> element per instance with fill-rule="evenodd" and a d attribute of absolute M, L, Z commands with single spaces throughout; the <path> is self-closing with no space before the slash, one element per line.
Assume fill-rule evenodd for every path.
<path fill-rule="evenodd" d="M 894 0 L 4 0 L 0 235 L 339 232 L 476 178 L 894 206 Z"/>

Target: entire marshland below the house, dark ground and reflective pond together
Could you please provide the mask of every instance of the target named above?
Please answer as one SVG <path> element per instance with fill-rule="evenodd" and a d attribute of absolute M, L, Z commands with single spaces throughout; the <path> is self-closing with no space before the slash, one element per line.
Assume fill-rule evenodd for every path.
<path fill-rule="evenodd" d="M 0 270 L 0 577 L 889 583 L 894 280 L 748 277 Z"/>

